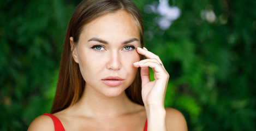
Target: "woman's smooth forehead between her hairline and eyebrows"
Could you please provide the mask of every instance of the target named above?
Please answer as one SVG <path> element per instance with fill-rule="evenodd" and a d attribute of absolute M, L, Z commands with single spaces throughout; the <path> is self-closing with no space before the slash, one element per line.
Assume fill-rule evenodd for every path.
<path fill-rule="evenodd" d="M 139 28 L 133 17 L 127 11 L 119 10 L 115 13 L 108 13 L 87 23 L 80 34 L 80 37 L 100 37 L 110 39 L 119 37 L 127 39 L 129 37 L 139 37 Z"/>

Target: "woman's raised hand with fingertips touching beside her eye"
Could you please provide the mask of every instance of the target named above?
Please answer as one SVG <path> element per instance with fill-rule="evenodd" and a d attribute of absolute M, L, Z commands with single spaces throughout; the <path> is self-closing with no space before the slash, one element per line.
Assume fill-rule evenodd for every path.
<path fill-rule="evenodd" d="M 143 49 L 137 47 L 136 50 L 139 54 L 147 58 L 134 63 L 134 67 L 141 68 L 141 95 L 144 105 L 146 108 L 164 108 L 164 98 L 169 74 L 157 55 L 147 51 L 145 47 Z M 150 81 L 148 67 L 152 68 L 154 72 L 154 81 Z"/>

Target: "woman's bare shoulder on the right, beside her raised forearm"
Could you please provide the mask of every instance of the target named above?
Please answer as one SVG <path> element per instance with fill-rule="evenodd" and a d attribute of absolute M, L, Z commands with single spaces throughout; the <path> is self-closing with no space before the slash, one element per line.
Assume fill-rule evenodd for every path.
<path fill-rule="evenodd" d="M 167 130 L 187 131 L 187 122 L 182 113 L 173 108 L 165 108 Z"/>

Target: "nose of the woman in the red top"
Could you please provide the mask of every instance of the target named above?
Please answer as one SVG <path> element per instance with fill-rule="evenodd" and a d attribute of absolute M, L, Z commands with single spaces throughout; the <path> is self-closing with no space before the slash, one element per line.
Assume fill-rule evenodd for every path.
<path fill-rule="evenodd" d="M 106 65 L 106 68 L 109 70 L 120 70 L 122 67 L 120 54 L 118 54 L 118 51 L 110 52 L 110 55 L 106 56 L 108 57 L 108 63 Z"/>

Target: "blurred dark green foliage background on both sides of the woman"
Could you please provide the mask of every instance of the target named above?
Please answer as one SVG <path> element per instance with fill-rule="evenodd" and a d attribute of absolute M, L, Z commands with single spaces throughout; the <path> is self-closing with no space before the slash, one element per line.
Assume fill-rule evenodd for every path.
<path fill-rule="evenodd" d="M 0 130 L 27 130 L 49 112 L 63 38 L 80 1 L 0 2 Z M 170 74 L 165 105 L 180 110 L 189 130 L 255 130 L 256 1 L 169 1 L 181 16 L 163 31 L 159 15 L 136 4 L 148 50 Z M 202 19 L 213 10 L 217 20 Z"/>

